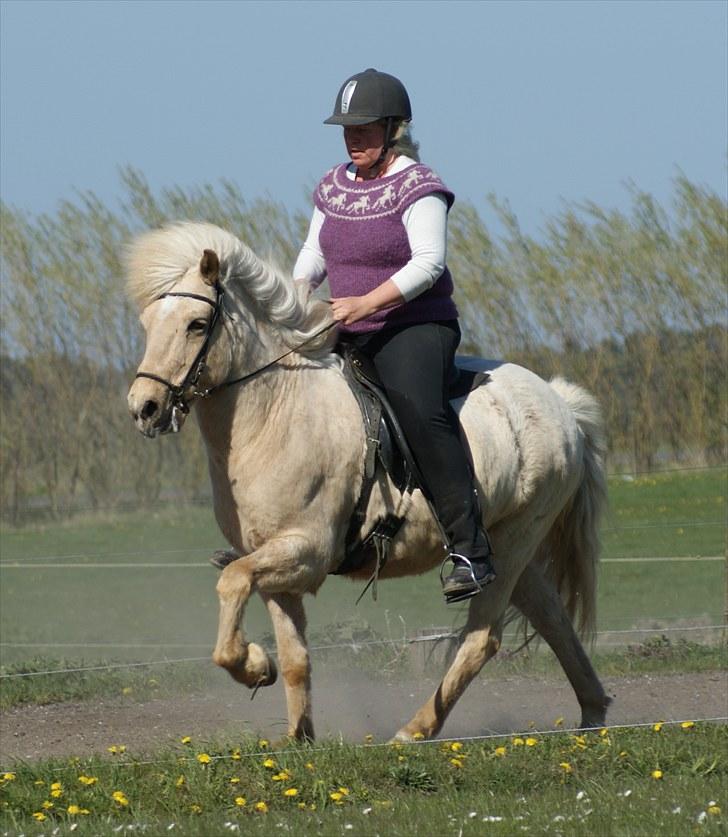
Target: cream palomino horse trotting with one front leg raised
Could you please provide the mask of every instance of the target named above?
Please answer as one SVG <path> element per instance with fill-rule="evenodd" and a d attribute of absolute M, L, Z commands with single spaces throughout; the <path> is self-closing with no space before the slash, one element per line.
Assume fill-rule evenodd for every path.
<path fill-rule="evenodd" d="M 365 434 L 332 353 L 328 306 L 207 224 L 175 224 L 129 250 L 129 291 L 147 344 L 128 403 L 148 437 L 178 430 L 194 402 L 209 457 L 215 514 L 241 556 L 217 585 L 214 661 L 251 688 L 276 667 L 248 642 L 245 605 L 257 592 L 275 629 L 288 734 L 312 738 L 311 667 L 303 595 L 343 557 L 362 485 Z M 327 328 L 328 326 L 328 328 Z M 500 645 L 514 605 L 556 653 L 582 709 L 602 725 L 609 699 L 572 627 L 593 628 L 597 525 L 605 502 L 604 439 L 594 399 L 513 364 L 457 402 L 477 472 L 497 580 L 470 601 L 455 659 L 432 697 L 396 737 L 436 735 Z M 379 474 L 364 531 L 403 496 Z M 422 573 L 444 557 L 419 491 L 382 578 Z M 371 568 L 352 577 L 365 579 Z M 437 585 L 433 596 L 439 596 Z"/>

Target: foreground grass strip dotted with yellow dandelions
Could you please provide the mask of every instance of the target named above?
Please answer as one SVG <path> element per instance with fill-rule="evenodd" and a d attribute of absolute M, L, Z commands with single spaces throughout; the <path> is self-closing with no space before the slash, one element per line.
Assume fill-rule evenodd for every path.
<path fill-rule="evenodd" d="M 172 823 L 185 835 L 231 833 L 231 825 L 245 834 L 717 835 L 727 822 L 726 752 L 728 727 L 707 724 L 278 752 L 254 739 L 193 740 L 139 762 L 119 754 L 18 764 L 1 782 L 0 827 L 65 834 L 77 823 L 76 834 L 103 835 L 129 825 L 168 833 Z M 266 810 L 256 811 L 257 803 Z M 36 812 L 47 819 L 36 822 Z"/>

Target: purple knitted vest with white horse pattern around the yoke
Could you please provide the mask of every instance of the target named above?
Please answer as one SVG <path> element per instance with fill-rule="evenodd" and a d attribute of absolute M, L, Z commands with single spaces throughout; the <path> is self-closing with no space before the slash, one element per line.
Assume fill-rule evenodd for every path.
<path fill-rule="evenodd" d="M 333 297 L 363 296 L 386 282 L 412 257 L 402 213 L 424 195 L 440 192 L 448 209 L 455 196 L 427 166 L 417 164 L 397 174 L 356 182 L 346 174 L 346 165 L 331 169 L 316 187 L 313 199 L 324 213 L 319 244 Z M 454 320 L 452 277 L 442 276 L 419 296 L 377 311 L 345 332 L 378 331 L 406 323 Z"/>

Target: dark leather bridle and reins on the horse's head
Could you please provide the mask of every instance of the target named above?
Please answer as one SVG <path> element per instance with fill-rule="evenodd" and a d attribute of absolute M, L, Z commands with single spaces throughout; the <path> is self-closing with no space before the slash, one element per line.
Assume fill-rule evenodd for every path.
<path fill-rule="evenodd" d="M 195 359 L 192 361 L 192 364 L 190 365 L 190 368 L 187 370 L 187 374 L 185 375 L 181 384 L 173 384 L 166 378 L 162 378 L 160 375 L 155 375 L 152 372 L 137 372 L 134 376 L 135 380 L 137 378 L 149 378 L 151 381 L 156 381 L 157 383 L 166 386 L 172 394 L 173 413 L 174 410 L 179 410 L 184 415 L 187 415 L 190 411 L 191 398 L 209 398 L 210 395 L 212 395 L 214 392 L 217 392 L 218 390 L 231 387 L 235 384 L 245 383 L 246 381 L 249 381 L 251 378 L 254 378 L 256 375 L 260 375 L 261 372 L 265 372 L 266 369 L 270 369 L 271 366 L 275 366 L 284 358 L 303 348 L 303 346 L 305 346 L 307 343 L 310 343 L 312 340 L 315 340 L 317 337 L 320 337 L 324 332 L 338 325 L 338 322 L 336 321 L 328 323 L 328 325 L 319 329 L 315 334 L 312 334 L 311 337 L 304 340 L 303 343 L 300 343 L 293 349 L 289 349 L 287 352 L 284 352 L 282 355 L 279 355 L 278 357 L 269 361 L 264 366 L 255 369 L 253 372 L 248 372 L 246 375 L 241 375 L 239 378 L 233 378 L 229 381 L 223 381 L 222 383 L 215 384 L 214 386 L 208 387 L 207 389 L 198 389 L 197 384 L 200 380 L 200 377 L 202 376 L 202 373 L 205 371 L 205 367 L 207 366 L 207 353 L 210 349 L 210 342 L 212 340 L 215 327 L 220 321 L 220 316 L 223 310 L 222 300 L 223 296 L 225 295 L 225 290 L 219 282 L 215 282 L 215 284 L 212 287 L 215 289 L 214 300 L 210 299 L 207 296 L 202 296 L 201 294 L 184 293 L 182 291 L 170 291 L 169 293 L 161 294 L 154 300 L 155 302 L 157 302 L 158 300 L 165 299 L 167 297 L 185 297 L 187 299 L 197 299 L 200 302 L 206 302 L 208 305 L 212 306 L 212 317 L 210 317 L 210 322 L 207 324 L 205 339 L 202 341 L 202 346 L 200 346 L 199 351 L 195 355 Z M 186 397 L 185 393 L 190 389 L 192 390 L 192 392 L 189 396 Z M 173 417 L 173 424 L 174 423 L 175 419 Z"/>

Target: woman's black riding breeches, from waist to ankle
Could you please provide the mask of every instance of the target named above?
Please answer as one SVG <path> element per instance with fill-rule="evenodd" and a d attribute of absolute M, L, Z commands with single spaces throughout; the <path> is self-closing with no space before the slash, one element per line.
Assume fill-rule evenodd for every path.
<path fill-rule="evenodd" d="M 347 336 L 371 359 L 449 540 L 468 558 L 489 553 L 472 472 L 448 391 L 460 343 L 457 320 L 414 323 Z"/>

